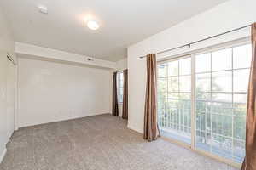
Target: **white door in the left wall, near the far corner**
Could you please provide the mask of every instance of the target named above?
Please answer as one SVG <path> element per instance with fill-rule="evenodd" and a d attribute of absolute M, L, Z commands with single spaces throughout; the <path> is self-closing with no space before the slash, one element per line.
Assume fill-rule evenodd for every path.
<path fill-rule="evenodd" d="M 7 60 L 7 135 L 10 138 L 15 131 L 15 65 Z"/>

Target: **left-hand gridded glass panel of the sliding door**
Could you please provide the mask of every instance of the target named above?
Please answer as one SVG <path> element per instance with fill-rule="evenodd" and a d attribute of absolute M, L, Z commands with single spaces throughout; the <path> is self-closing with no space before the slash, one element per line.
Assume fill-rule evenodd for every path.
<path fill-rule="evenodd" d="M 161 133 L 191 143 L 191 58 L 158 65 Z"/>

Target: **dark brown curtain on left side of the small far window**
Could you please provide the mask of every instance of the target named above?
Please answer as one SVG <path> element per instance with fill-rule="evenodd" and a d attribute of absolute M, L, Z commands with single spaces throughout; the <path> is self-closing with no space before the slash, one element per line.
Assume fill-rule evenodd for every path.
<path fill-rule="evenodd" d="M 118 103 L 118 96 L 117 96 L 117 72 L 113 73 L 113 94 L 112 94 L 112 115 L 119 116 L 119 103 Z"/>

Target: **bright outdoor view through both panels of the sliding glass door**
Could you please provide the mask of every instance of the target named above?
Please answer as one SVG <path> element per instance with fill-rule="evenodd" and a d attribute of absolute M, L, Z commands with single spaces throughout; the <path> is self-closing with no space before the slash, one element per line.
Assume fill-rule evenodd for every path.
<path fill-rule="evenodd" d="M 162 135 L 241 163 L 251 58 L 246 44 L 159 63 Z"/>

